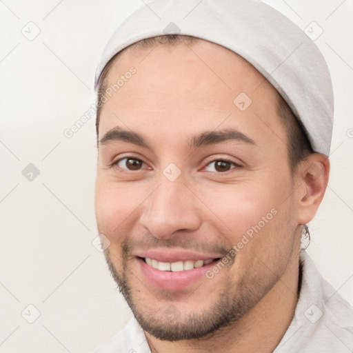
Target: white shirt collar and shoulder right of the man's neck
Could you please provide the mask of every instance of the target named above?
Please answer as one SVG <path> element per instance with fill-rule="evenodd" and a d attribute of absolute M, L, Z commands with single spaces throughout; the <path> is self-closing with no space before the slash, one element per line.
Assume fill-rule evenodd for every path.
<path fill-rule="evenodd" d="M 301 265 L 301 292 L 294 318 L 275 352 L 352 352 L 352 305 L 323 279 L 304 251 Z"/>

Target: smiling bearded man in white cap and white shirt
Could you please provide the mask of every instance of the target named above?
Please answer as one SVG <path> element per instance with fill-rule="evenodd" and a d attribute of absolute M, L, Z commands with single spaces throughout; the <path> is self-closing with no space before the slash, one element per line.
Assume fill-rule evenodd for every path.
<path fill-rule="evenodd" d="M 259 1 L 157 0 L 96 84 L 97 224 L 134 318 L 94 352 L 352 352 L 303 250 L 333 119 L 314 43 Z"/>

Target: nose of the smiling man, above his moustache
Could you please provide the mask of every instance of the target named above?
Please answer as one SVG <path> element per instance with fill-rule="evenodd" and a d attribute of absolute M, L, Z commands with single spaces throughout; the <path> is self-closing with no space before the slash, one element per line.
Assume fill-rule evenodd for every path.
<path fill-rule="evenodd" d="M 157 190 L 143 203 L 141 225 L 158 239 L 169 239 L 176 232 L 198 229 L 201 216 L 197 212 L 195 196 L 183 181 L 163 178 Z"/>

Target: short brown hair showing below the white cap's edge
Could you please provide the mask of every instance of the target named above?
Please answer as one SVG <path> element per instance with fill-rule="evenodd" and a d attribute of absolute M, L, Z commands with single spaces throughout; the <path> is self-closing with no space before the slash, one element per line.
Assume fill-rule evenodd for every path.
<path fill-rule="evenodd" d="M 103 97 L 105 94 L 105 90 L 107 89 L 107 78 L 108 72 L 112 65 L 119 59 L 119 57 L 129 51 L 135 49 L 145 49 L 151 48 L 152 46 L 157 46 L 162 44 L 164 46 L 175 46 L 179 43 L 185 43 L 187 45 L 191 45 L 196 37 L 185 36 L 181 34 L 168 34 L 164 36 L 151 37 L 147 39 L 143 39 L 138 41 L 137 43 L 133 43 L 131 46 L 124 48 L 120 52 L 114 55 L 112 59 L 105 65 L 101 73 L 101 77 L 99 78 L 99 82 L 97 85 L 97 119 L 96 119 L 96 129 L 97 129 L 97 139 L 99 132 L 99 117 L 101 113 L 102 104 L 98 104 L 103 101 Z M 310 141 L 307 138 L 306 130 L 296 118 L 288 103 L 281 97 L 281 94 L 278 94 L 277 98 L 277 111 L 279 116 L 281 117 L 281 121 L 285 126 L 285 130 L 287 130 L 288 137 L 288 159 L 290 161 L 290 168 L 294 173 L 296 171 L 296 167 L 300 161 L 303 161 L 310 153 L 314 152 L 310 145 Z"/>

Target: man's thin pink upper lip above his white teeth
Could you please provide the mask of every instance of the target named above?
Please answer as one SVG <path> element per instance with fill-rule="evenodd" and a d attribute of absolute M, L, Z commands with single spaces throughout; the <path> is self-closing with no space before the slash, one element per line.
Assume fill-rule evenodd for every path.
<path fill-rule="evenodd" d="M 201 254 L 199 252 L 190 252 L 183 250 L 145 250 L 139 251 L 134 254 L 137 257 L 143 257 L 148 259 L 154 259 L 159 262 L 174 263 L 178 261 L 198 261 L 198 260 L 210 260 L 219 259 L 222 256 L 219 254 Z"/>

